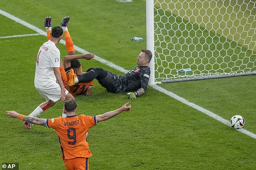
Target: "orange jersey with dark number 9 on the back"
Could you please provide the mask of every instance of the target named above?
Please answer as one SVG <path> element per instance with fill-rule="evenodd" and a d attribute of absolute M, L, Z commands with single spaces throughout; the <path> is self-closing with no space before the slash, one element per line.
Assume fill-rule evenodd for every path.
<path fill-rule="evenodd" d="M 47 127 L 54 128 L 59 136 L 63 160 L 89 158 L 88 130 L 96 125 L 96 116 L 74 115 L 47 119 Z"/>

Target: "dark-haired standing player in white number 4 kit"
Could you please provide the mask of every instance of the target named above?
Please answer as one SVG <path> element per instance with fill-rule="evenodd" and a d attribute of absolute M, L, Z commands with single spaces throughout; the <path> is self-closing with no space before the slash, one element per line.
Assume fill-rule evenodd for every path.
<path fill-rule="evenodd" d="M 56 102 L 74 100 L 64 87 L 60 72 L 60 51 L 56 47 L 62 39 L 63 30 L 61 27 L 54 27 L 51 32 L 51 39 L 44 43 L 37 54 L 36 72 L 35 72 L 35 87 L 43 96 L 46 102 L 41 103 L 29 116 L 37 117 L 49 107 L 54 106 Z M 58 82 L 58 83 L 57 83 Z M 65 117 L 63 114 L 62 116 Z M 30 123 L 23 121 L 25 126 L 30 129 Z"/>

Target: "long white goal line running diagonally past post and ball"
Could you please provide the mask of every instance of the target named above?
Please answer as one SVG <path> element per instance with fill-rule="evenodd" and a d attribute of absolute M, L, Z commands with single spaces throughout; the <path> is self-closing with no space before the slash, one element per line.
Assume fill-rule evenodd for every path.
<path fill-rule="evenodd" d="M 6 17 L 8 17 L 9 19 L 14 20 L 14 21 L 16 21 L 17 23 L 20 23 L 20 24 L 22 24 L 22 25 L 24 25 L 24 26 L 26 26 L 26 27 L 28 27 L 28 28 L 30 28 L 30 29 L 36 31 L 36 32 L 38 32 L 38 33 L 41 34 L 41 35 L 47 36 L 47 35 L 46 35 L 46 32 L 42 31 L 41 29 L 39 29 L 39 28 L 37 28 L 37 27 L 35 27 L 35 26 L 33 26 L 33 25 L 31 25 L 31 24 L 29 24 L 29 23 L 27 23 L 27 22 L 25 22 L 25 21 L 23 21 L 23 20 L 21 20 L 21 19 L 19 19 L 19 18 L 17 18 L 17 17 L 15 17 L 15 16 L 12 16 L 11 14 L 9 14 L 9 13 L 7 13 L 7 12 L 4 12 L 4 11 L 0 10 L 0 14 L 6 16 Z M 61 40 L 60 43 L 65 44 L 65 41 L 64 41 L 64 40 Z M 84 54 L 84 53 L 89 53 L 88 51 L 85 51 L 85 50 L 83 50 L 82 48 L 77 47 L 77 46 L 74 46 L 74 49 L 75 49 L 76 51 L 78 51 L 78 52 L 83 53 L 83 54 Z M 105 60 L 105 59 L 102 59 L 102 58 L 100 58 L 100 57 L 98 57 L 98 56 L 96 56 L 96 55 L 95 55 L 95 59 L 96 59 L 97 61 L 99 61 L 99 62 L 101 62 L 101 63 L 104 63 L 104 64 L 106 64 L 106 65 L 108 65 L 108 66 L 110 66 L 110 67 L 112 67 L 112 68 L 115 68 L 116 70 L 119 70 L 119 71 L 121 71 L 121 72 L 124 72 L 124 73 L 127 73 L 127 72 L 128 72 L 128 70 L 124 69 L 123 67 L 117 66 L 116 64 L 111 63 L 111 62 L 109 62 L 109 61 L 107 61 L 107 60 Z M 208 115 L 208 116 L 211 116 L 212 118 L 214 118 L 214 119 L 216 119 L 216 120 L 218 120 L 218 121 L 220 121 L 220 122 L 226 124 L 227 126 L 229 126 L 229 121 L 226 120 L 226 119 L 223 119 L 223 118 L 220 117 L 219 115 L 216 115 L 215 113 L 213 113 L 213 112 L 211 112 L 211 111 L 208 111 L 207 109 L 205 109 L 205 108 L 203 108 L 203 107 L 200 107 L 200 106 L 198 106 L 198 105 L 196 105 L 196 104 L 194 104 L 194 103 L 191 103 L 191 102 L 189 102 L 188 100 L 186 100 L 186 99 L 184 99 L 184 98 L 182 98 L 182 97 L 180 97 L 180 96 L 178 96 L 178 95 L 175 95 L 174 93 L 172 93 L 172 92 L 170 92 L 170 91 L 167 91 L 166 89 L 164 89 L 164 88 L 162 88 L 162 87 L 160 87 L 160 86 L 152 85 L 151 87 L 153 87 L 153 88 L 156 89 L 157 91 L 160 91 L 160 92 L 162 92 L 162 93 L 165 93 L 166 95 L 169 95 L 169 96 L 172 97 L 173 99 L 176 99 L 176 100 L 178 100 L 178 101 L 180 101 L 180 102 L 182 102 L 182 103 L 184 103 L 184 104 L 186 104 L 186 105 L 188 105 L 188 106 L 190 106 L 190 107 L 193 107 L 194 109 L 196 109 L 196 110 L 198 110 L 198 111 L 201 111 L 202 113 L 204 113 L 204 114 L 206 114 L 206 115 Z M 238 131 L 240 131 L 240 132 L 242 132 L 242 133 L 244 133 L 244 134 L 247 134 L 248 136 L 251 136 L 252 138 L 255 138 L 255 139 L 256 139 L 256 134 L 253 134 L 252 132 L 250 132 L 250 131 L 248 131 L 248 130 L 240 129 L 240 130 L 238 130 Z"/>

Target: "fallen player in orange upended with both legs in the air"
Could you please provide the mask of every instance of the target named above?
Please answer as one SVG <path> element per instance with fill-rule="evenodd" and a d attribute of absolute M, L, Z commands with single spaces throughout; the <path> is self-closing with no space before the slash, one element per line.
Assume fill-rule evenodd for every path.
<path fill-rule="evenodd" d="M 85 54 L 85 55 L 75 55 L 74 51 L 74 43 L 71 39 L 70 33 L 67 29 L 67 24 L 70 20 L 70 17 L 65 17 L 62 22 L 61 26 L 64 32 L 65 36 L 65 42 L 66 42 L 66 48 L 68 55 L 64 57 L 64 65 L 61 62 L 60 71 L 62 74 L 62 81 L 66 89 L 70 92 L 72 95 L 91 95 L 92 87 L 93 87 L 93 80 L 88 81 L 86 83 L 78 83 L 74 86 L 68 86 L 67 82 L 70 78 L 70 73 L 72 73 L 73 76 L 79 76 L 82 75 L 83 70 L 81 63 L 78 59 L 92 59 L 94 57 L 93 54 Z M 45 29 L 47 32 L 47 39 L 50 40 L 50 33 L 51 33 L 51 17 L 45 18 Z"/>

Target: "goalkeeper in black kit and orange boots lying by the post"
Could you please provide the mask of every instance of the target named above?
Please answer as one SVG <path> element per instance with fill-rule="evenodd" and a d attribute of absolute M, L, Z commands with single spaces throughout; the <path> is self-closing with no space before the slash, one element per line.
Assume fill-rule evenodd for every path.
<path fill-rule="evenodd" d="M 129 92 L 129 99 L 136 99 L 147 90 L 149 83 L 150 68 L 149 62 L 152 53 L 149 50 L 142 50 L 137 58 L 138 66 L 125 75 L 116 75 L 102 68 L 89 68 L 87 73 L 76 77 L 70 75 L 69 86 L 97 79 L 99 83 L 111 93 Z M 134 91 L 134 92 L 131 92 Z"/>

